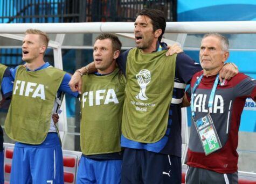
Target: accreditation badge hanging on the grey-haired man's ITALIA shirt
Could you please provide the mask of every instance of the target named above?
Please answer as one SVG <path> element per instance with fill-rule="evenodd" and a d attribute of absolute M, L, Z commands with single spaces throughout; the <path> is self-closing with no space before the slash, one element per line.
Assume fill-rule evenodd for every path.
<path fill-rule="evenodd" d="M 194 123 L 206 156 L 222 148 L 210 114 L 198 119 Z"/>

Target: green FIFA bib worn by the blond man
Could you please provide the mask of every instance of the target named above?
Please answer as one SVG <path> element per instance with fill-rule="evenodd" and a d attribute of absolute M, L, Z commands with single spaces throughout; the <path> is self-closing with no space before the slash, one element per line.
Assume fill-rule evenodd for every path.
<path fill-rule="evenodd" d="M 14 141 L 40 144 L 50 128 L 54 100 L 65 72 L 54 67 L 27 71 L 18 67 L 5 132 Z"/>

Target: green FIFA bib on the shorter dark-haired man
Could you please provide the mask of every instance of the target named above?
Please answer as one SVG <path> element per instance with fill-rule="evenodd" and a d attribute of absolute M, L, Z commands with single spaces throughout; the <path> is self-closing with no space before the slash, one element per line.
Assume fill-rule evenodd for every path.
<path fill-rule="evenodd" d="M 119 69 L 105 76 L 82 76 L 80 139 L 83 154 L 121 151 L 125 84 Z"/>

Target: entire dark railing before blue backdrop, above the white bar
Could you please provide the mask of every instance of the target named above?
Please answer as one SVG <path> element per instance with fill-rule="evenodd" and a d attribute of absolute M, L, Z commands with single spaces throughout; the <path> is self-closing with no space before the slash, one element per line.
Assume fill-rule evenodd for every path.
<path fill-rule="evenodd" d="M 143 8 L 176 21 L 177 0 L 1 0 L 0 23 L 78 23 L 134 21 Z"/>

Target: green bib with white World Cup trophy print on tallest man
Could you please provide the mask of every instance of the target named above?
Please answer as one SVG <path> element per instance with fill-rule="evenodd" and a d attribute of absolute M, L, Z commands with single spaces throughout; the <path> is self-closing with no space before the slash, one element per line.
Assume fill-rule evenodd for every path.
<path fill-rule="evenodd" d="M 167 130 L 177 55 L 167 57 L 166 52 L 129 51 L 122 134 L 130 140 L 155 143 Z"/>

